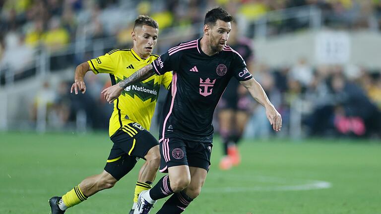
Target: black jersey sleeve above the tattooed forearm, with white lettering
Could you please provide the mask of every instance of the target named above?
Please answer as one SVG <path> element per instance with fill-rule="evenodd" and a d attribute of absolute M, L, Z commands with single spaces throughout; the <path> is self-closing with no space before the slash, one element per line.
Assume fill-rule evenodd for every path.
<path fill-rule="evenodd" d="M 153 70 L 157 75 L 163 75 L 168 71 L 178 70 L 180 53 L 161 55 L 152 62 Z"/>

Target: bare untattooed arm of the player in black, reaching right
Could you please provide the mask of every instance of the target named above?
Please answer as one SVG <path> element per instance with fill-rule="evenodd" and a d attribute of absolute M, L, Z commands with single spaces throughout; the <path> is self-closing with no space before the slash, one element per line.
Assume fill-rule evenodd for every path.
<path fill-rule="evenodd" d="M 270 121 L 274 131 L 280 131 L 280 128 L 282 127 L 282 116 L 268 100 L 262 86 L 254 78 L 247 81 L 241 81 L 240 83 L 249 90 L 252 97 L 258 101 L 258 103 L 266 108 L 267 119 Z"/>

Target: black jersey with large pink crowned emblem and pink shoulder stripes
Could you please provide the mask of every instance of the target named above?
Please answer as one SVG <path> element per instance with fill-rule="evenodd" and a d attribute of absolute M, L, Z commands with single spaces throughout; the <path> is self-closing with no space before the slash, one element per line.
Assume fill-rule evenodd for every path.
<path fill-rule="evenodd" d="M 229 46 L 208 56 L 201 51 L 200 40 L 181 43 L 152 62 L 162 75 L 173 70 L 160 125 L 160 141 L 178 137 L 199 142 L 213 140 L 213 112 L 229 80 L 253 78 L 245 60 Z"/>

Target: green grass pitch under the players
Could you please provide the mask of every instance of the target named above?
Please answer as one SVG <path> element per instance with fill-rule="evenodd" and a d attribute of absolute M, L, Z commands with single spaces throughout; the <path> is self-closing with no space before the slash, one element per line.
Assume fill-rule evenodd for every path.
<path fill-rule="evenodd" d="M 0 142 L 0 214 L 49 214 L 48 199 L 100 173 L 112 146 L 107 133 L 2 132 Z M 185 213 L 381 214 L 380 142 L 245 140 L 240 150 L 241 165 L 219 170 L 216 137 L 201 195 Z M 113 189 L 66 213 L 127 214 L 142 161 Z"/>

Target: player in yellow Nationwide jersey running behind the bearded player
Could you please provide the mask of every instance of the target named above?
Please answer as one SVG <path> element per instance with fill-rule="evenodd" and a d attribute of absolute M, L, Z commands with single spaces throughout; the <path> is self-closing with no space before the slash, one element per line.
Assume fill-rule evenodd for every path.
<path fill-rule="evenodd" d="M 108 73 L 113 85 L 124 80 L 139 68 L 150 64 L 158 56 L 151 54 L 157 42 L 158 25 L 148 16 L 140 15 L 135 20 L 132 49 L 116 49 L 105 55 L 91 59 L 77 66 L 71 93 L 86 91 L 83 78 L 87 71 L 95 74 Z M 138 82 L 122 93 L 114 102 L 114 112 L 110 118 L 109 134 L 114 145 L 107 159 L 104 171 L 80 182 L 62 197 L 49 200 L 52 214 L 63 214 L 67 208 L 85 201 L 88 197 L 112 188 L 125 176 L 139 158 L 145 159 L 136 182 L 134 204 L 143 190 L 151 188 L 160 164 L 159 143 L 149 132 L 160 86 L 169 88 L 172 74 L 154 75 Z"/>

